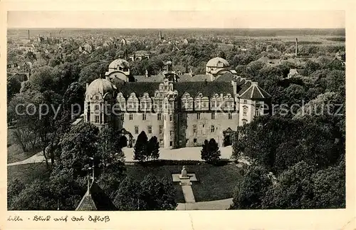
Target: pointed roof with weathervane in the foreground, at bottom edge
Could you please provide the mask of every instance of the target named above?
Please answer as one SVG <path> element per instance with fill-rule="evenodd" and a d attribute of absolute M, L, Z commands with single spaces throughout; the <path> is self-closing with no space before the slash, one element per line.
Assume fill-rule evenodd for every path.
<path fill-rule="evenodd" d="M 117 210 L 110 197 L 96 182 L 90 185 L 75 211 L 114 211 Z"/>

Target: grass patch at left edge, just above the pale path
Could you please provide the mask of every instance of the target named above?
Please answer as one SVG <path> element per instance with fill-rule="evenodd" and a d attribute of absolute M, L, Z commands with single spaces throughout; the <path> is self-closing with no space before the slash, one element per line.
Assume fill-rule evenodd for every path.
<path fill-rule="evenodd" d="M 22 160 L 26 160 L 28 157 L 32 157 L 37 152 L 41 150 L 37 147 L 33 150 L 29 150 L 28 152 L 23 152 L 21 146 L 16 144 L 14 140 L 14 136 L 12 135 L 12 130 L 7 130 L 7 163 L 20 162 Z"/>

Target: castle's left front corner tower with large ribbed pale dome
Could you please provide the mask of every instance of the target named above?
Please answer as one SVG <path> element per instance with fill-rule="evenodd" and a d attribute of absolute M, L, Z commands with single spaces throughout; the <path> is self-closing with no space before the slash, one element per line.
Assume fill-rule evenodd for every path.
<path fill-rule="evenodd" d="M 98 78 L 87 84 L 84 100 L 85 122 L 93 123 L 100 129 L 112 121 L 112 105 L 115 90 L 109 80 Z"/>

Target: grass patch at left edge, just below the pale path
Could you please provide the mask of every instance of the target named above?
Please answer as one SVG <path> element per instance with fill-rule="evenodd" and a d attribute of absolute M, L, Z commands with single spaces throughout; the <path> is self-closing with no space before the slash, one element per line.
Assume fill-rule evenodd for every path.
<path fill-rule="evenodd" d="M 7 167 L 7 181 L 18 178 L 23 184 L 33 182 L 34 179 L 48 179 L 50 176 L 46 163 L 19 164 Z"/>

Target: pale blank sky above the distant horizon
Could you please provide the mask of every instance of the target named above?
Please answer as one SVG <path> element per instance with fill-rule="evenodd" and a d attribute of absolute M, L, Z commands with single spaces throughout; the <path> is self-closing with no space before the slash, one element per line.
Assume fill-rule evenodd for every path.
<path fill-rule="evenodd" d="M 8 11 L 8 28 L 345 28 L 345 11 Z"/>

